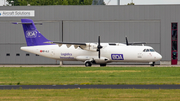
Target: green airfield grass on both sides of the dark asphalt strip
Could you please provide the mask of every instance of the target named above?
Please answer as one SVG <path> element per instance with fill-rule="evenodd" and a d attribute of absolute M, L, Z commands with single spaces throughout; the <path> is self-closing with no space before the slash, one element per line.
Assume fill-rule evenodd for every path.
<path fill-rule="evenodd" d="M 180 67 L 1 67 L 0 85 L 180 84 Z M 179 101 L 179 89 L 11 89 L 13 101 Z"/>

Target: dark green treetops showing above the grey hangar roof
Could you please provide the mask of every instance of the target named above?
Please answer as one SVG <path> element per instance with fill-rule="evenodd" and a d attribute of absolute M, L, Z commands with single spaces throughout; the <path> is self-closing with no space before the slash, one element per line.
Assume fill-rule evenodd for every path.
<path fill-rule="evenodd" d="M 93 0 L 7 0 L 12 6 L 40 5 L 91 5 Z"/>

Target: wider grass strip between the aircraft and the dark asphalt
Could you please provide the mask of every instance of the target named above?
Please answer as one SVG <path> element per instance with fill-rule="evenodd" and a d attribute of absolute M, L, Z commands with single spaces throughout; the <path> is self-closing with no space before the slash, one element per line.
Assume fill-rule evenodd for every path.
<path fill-rule="evenodd" d="M 1 67 L 0 85 L 180 84 L 180 67 Z"/>

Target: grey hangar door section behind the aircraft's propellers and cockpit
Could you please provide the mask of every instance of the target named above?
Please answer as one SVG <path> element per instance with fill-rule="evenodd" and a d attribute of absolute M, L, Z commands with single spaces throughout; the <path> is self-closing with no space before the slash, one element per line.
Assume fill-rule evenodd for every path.
<path fill-rule="evenodd" d="M 63 21 L 64 42 L 146 42 L 160 52 L 160 21 Z M 79 64 L 82 62 L 63 62 Z"/>

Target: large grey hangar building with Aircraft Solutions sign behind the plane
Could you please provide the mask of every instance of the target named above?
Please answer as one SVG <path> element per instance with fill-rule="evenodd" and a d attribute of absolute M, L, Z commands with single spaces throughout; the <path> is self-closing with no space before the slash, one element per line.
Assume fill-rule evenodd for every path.
<path fill-rule="evenodd" d="M 11 22 L 30 18 L 48 39 L 63 42 L 146 42 L 162 55 L 161 64 L 178 61 L 180 5 L 1 6 L 0 64 L 59 64 L 20 50 L 23 28 Z M 2 16 L 3 11 L 33 11 L 33 16 Z M 132 50 L 133 51 L 133 50 Z M 63 64 L 81 64 L 66 62 Z M 121 63 L 119 63 L 121 64 Z"/>

